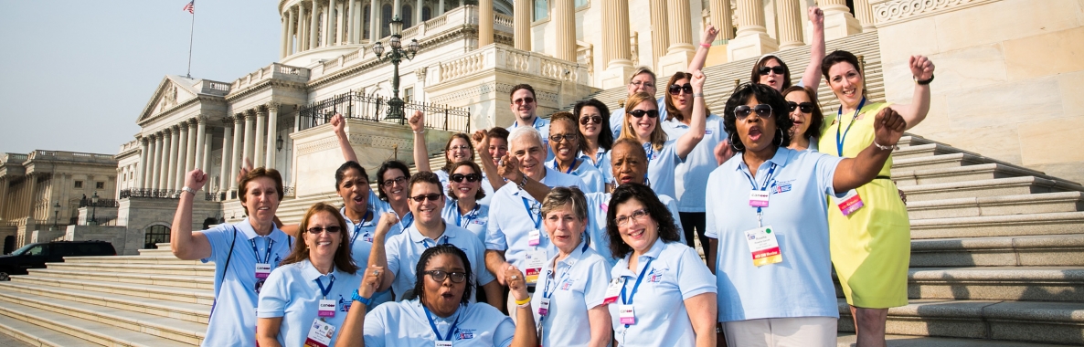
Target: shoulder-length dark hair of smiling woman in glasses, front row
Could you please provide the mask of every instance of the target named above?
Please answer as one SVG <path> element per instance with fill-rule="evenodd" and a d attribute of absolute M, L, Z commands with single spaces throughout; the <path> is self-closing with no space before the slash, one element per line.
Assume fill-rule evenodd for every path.
<path fill-rule="evenodd" d="M 647 185 L 638 183 L 621 184 L 614 190 L 608 206 L 609 209 L 606 213 L 606 235 L 610 239 L 610 255 L 614 258 L 623 258 L 632 252 L 632 247 L 624 243 L 624 240 L 621 239 L 621 233 L 617 230 L 617 207 L 630 200 L 636 200 L 641 204 L 644 204 L 647 215 L 659 224 L 659 237 L 662 241 L 681 241 L 681 236 L 678 235 L 678 224 L 674 223 L 673 215 L 667 209 L 667 205 L 663 205 L 659 201 L 659 196 L 655 195 L 655 191 Z"/>

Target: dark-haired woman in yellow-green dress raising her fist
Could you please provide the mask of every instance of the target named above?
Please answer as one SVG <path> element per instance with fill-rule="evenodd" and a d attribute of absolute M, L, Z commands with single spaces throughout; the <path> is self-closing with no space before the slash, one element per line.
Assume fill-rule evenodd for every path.
<path fill-rule="evenodd" d="M 933 63 L 921 55 L 911 56 L 908 63 L 915 78 L 912 103 L 890 104 L 865 98 L 865 79 L 854 54 L 835 51 L 824 57 L 821 69 L 840 108 L 824 115 L 822 153 L 857 155 L 874 142 L 874 119 L 885 108 L 899 113 L 908 129 L 926 118 Z M 907 305 L 911 222 L 890 178 L 891 167 L 889 158 L 877 179 L 828 201 L 831 261 L 851 306 L 860 346 L 883 346 L 888 308 Z"/>

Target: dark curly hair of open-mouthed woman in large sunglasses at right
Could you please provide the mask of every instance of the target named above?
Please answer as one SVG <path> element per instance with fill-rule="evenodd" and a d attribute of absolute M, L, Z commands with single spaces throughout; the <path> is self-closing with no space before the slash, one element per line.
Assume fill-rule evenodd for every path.
<path fill-rule="evenodd" d="M 765 136 L 779 137 L 779 139 L 773 138 L 772 144 L 776 149 L 790 145 L 790 128 L 795 126 L 795 123 L 790 119 L 790 115 L 787 112 L 789 110 L 787 100 L 783 99 L 783 94 L 779 91 L 766 85 L 743 83 L 734 89 L 734 93 L 731 94 L 731 99 L 726 101 L 726 107 L 723 110 L 723 127 L 726 129 L 731 146 L 737 152 L 745 152 L 746 150 L 735 127 L 737 117 L 734 116 L 734 108 L 749 103 L 750 98 L 757 98 L 758 102 L 772 106 L 772 119 L 775 120 L 775 127 L 782 130 L 783 133 L 782 137 L 779 137 L 779 131 L 771 134 L 765 133 Z"/>

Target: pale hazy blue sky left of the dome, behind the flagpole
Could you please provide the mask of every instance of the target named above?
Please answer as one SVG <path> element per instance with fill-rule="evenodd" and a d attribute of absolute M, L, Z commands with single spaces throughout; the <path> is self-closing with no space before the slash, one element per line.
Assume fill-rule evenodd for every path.
<path fill-rule="evenodd" d="M 192 77 L 279 60 L 279 1 L 198 0 Z M 0 152 L 116 154 L 165 75 L 184 75 L 188 0 L 0 0 Z"/>

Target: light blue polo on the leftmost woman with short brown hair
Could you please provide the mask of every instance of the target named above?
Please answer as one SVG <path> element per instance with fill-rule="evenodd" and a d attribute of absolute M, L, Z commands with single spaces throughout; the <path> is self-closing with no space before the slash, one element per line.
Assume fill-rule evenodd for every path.
<path fill-rule="evenodd" d="M 272 227 L 267 236 L 259 236 L 245 218 L 235 224 L 219 224 L 210 230 L 199 231 L 210 243 L 210 257 L 203 262 L 215 261 L 215 306 L 207 322 L 207 335 L 203 346 L 247 346 L 256 343 L 257 254 L 259 262 L 271 265 L 271 270 L 289 250 L 297 239 Z M 233 244 L 233 253 L 230 253 Z M 230 267 L 227 269 L 227 259 Z M 224 275 L 224 280 L 223 279 Z"/>

